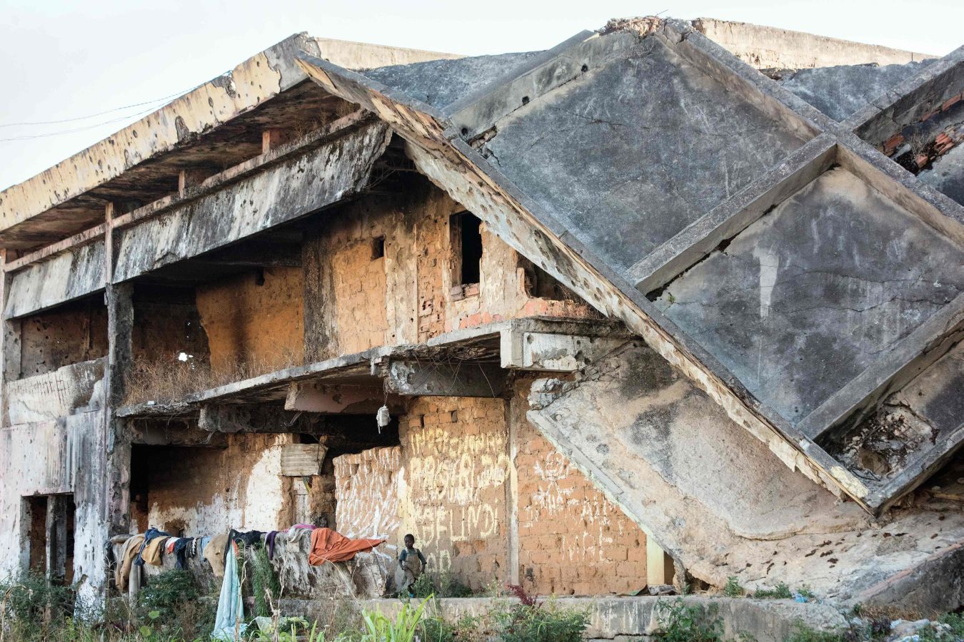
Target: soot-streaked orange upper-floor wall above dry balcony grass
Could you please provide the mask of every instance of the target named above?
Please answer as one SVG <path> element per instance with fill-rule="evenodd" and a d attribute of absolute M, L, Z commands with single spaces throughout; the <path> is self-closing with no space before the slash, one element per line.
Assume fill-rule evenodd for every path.
<path fill-rule="evenodd" d="M 302 270 L 272 268 L 198 288 L 198 310 L 207 333 L 211 369 L 246 364 L 270 372 L 302 363 Z"/>

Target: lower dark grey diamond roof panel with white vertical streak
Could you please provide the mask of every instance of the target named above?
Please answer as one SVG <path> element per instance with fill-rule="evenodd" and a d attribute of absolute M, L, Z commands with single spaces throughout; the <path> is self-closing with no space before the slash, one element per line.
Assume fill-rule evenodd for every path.
<path fill-rule="evenodd" d="M 657 304 L 791 423 L 964 291 L 964 252 L 838 167 Z"/>

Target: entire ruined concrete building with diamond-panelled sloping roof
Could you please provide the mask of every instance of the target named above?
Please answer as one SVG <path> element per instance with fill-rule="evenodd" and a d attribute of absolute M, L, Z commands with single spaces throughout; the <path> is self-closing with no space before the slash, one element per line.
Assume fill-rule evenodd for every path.
<path fill-rule="evenodd" d="M 714 20 L 286 39 L 0 193 L 0 568 L 314 523 L 474 589 L 956 607 L 962 93 Z"/>

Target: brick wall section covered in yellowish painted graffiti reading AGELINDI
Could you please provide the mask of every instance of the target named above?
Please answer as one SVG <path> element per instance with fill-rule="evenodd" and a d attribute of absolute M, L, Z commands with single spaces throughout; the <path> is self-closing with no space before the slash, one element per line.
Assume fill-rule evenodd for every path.
<path fill-rule="evenodd" d="M 416 398 L 400 424 L 399 535 L 473 589 L 506 575 L 505 411 L 503 399 Z"/>

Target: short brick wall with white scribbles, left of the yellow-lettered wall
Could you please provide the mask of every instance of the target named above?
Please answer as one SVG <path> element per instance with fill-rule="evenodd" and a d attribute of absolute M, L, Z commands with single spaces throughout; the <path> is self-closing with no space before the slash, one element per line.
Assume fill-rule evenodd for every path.
<path fill-rule="evenodd" d="M 362 450 L 333 461 L 338 532 L 348 537 L 384 537 L 394 547 L 400 539 L 398 478 L 402 449 Z"/>

